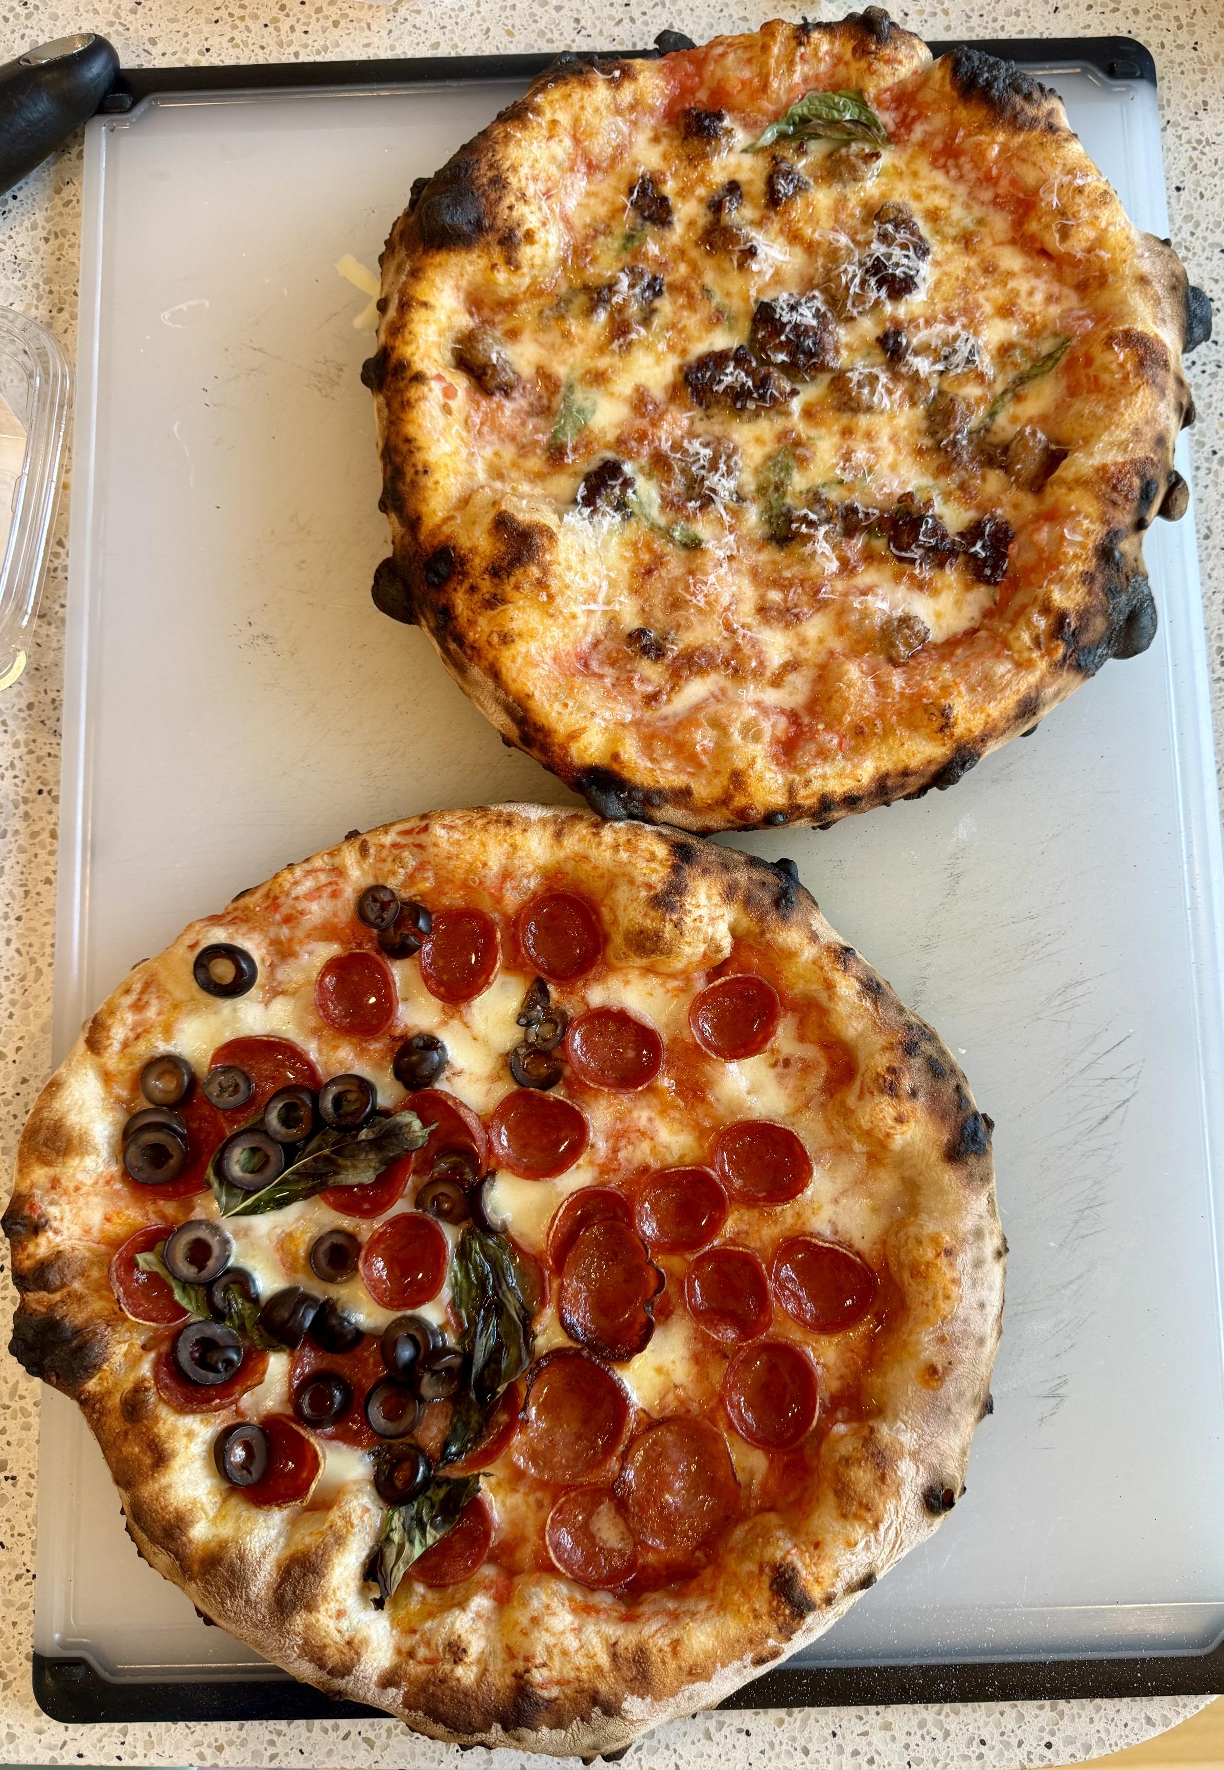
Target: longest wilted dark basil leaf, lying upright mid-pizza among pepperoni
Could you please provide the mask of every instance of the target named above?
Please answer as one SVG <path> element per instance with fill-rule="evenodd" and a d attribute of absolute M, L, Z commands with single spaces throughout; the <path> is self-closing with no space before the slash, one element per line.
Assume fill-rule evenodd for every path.
<path fill-rule="evenodd" d="M 523 1375 L 535 1349 L 519 1262 L 505 1235 L 468 1225 L 450 1262 L 450 1303 L 471 1375 L 468 1395 L 455 1402 L 438 1467 L 478 1443 L 489 1409 Z"/>

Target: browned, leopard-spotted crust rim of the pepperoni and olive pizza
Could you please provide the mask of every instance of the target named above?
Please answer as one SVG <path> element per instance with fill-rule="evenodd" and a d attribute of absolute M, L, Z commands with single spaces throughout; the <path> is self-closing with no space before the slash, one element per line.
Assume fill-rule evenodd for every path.
<path fill-rule="evenodd" d="M 363 1563 L 381 1503 L 351 1481 L 324 1510 L 257 1512 L 218 1478 L 227 1416 L 170 1412 L 151 1342 L 108 1287 L 117 1243 L 149 1216 L 119 1177 L 119 1126 L 156 1050 L 193 1050 L 202 945 L 244 945 L 255 989 L 232 1030 L 283 1030 L 299 954 L 372 881 L 500 904 L 540 881 L 600 903 L 613 966 L 661 979 L 769 943 L 786 986 L 854 1051 L 847 1136 L 909 1211 L 887 1230 L 903 1308 L 884 1328 L 863 1418 L 829 1430 L 795 1528 L 760 1512 L 693 1584 L 629 1605 L 551 1574 L 485 1565 L 455 1591 L 407 1579 L 386 1611 Z M 331 938 L 328 935 L 328 938 Z M 314 975 L 314 974 L 312 974 Z M 292 1021 L 298 1027 L 296 1021 Z M 299 1027 L 294 1034 L 301 1037 Z M 314 1041 L 324 1073 L 352 1051 Z M 198 1043 L 198 1039 L 197 1039 Z M 195 1057 L 198 1062 L 198 1055 Z M 893 1197 L 889 1193 L 887 1197 Z M 181 1214 L 198 1209 L 182 1200 Z M 795 1207 L 788 1207 L 795 1209 Z M 352 835 L 285 867 L 138 965 L 85 1025 L 21 1138 L 4 1218 L 21 1303 L 12 1349 L 73 1395 L 106 1455 L 143 1556 L 205 1614 L 294 1676 L 462 1743 L 592 1754 L 728 1696 L 808 1644 L 960 1496 L 1003 1308 L 990 1120 L 955 1058 L 778 869 L 700 839 L 588 812 L 503 805 Z"/>

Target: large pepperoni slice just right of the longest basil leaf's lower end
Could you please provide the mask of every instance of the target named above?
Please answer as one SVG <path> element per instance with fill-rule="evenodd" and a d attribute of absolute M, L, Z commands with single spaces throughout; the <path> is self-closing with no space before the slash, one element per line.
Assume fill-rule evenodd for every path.
<path fill-rule="evenodd" d="M 629 1397 L 583 1352 L 549 1352 L 528 1377 L 514 1460 L 537 1481 L 606 1480 L 629 1437 Z"/>

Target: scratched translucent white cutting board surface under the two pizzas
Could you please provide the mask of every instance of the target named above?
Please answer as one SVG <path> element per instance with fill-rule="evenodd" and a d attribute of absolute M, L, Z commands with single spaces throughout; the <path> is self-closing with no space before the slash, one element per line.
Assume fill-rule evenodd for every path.
<path fill-rule="evenodd" d="M 1155 92 L 1050 69 L 1164 234 Z M 335 271 L 512 87 L 156 101 L 87 138 L 57 1051 L 193 915 L 345 830 L 567 800 L 376 614 L 370 398 Z M 1180 457 L 1181 471 L 1187 462 Z M 1160 635 L 951 793 L 742 846 L 960 1053 L 1011 1243 L 969 1492 L 810 1662 L 1173 1651 L 1224 1632 L 1220 853 L 1192 517 Z M 113 1676 L 241 1669 L 138 1563 L 46 1397 L 37 1634 Z"/>

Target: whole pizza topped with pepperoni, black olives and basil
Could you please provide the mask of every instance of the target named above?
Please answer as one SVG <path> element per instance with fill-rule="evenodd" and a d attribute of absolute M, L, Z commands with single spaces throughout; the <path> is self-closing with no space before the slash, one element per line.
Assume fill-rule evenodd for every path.
<path fill-rule="evenodd" d="M 609 1751 L 955 1504 L 988 1145 L 786 862 L 439 812 L 94 1014 L 21 1140 L 12 1349 L 260 1653 L 438 1738 Z"/>

